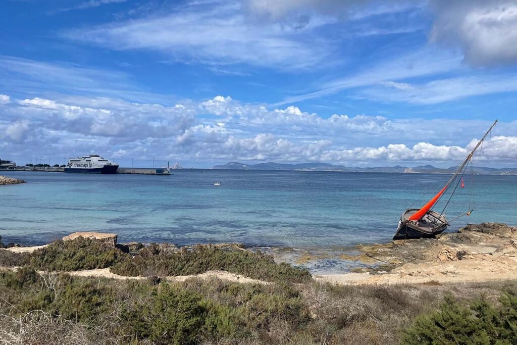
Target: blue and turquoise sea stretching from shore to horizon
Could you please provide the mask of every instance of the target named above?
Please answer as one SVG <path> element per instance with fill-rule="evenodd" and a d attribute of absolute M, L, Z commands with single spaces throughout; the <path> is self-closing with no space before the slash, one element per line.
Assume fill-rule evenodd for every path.
<path fill-rule="evenodd" d="M 119 242 L 241 242 L 335 248 L 391 239 L 400 214 L 430 199 L 439 174 L 178 170 L 171 176 L 2 172 L 3 242 L 39 245 L 75 231 L 113 231 Z M 221 181 L 222 186 L 213 185 Z M 472 182 L 447 215 L 467 211 Z M 452 222 L 517 224 L 517 176 L 475 176 L 475 209 Z"/>

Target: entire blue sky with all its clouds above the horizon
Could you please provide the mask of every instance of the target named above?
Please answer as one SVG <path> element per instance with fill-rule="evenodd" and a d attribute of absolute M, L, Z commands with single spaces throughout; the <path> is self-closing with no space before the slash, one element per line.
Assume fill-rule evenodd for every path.
<path fill-rule="evenodd" d="M 517 0 L 1 0 L 0 158 L 517 166 Z"/>

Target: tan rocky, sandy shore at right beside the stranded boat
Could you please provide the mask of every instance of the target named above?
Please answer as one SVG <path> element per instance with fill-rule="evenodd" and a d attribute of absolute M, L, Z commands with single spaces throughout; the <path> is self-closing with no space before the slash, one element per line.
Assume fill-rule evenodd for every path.
<path fill-rule="evenodd" d="M 343 284 L 447 283 L 517 279 L 517 227 L 467 224 L 457 233 L 357 247 L 354 272 L 317 275 Z"/>

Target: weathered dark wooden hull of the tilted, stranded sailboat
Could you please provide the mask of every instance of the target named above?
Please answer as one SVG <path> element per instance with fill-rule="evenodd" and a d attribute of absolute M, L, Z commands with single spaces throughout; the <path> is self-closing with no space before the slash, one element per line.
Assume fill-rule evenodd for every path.
<path fill-rule="evenodd" d="M 418 209 L 407 209 L 401 216 L 397 233 L 393 239 L 416 239 L 416 238 L 433 238 L 441 234 L 449 225 L 443 215 L 439 215 L 434 211 L 429 211 L 418 222 L 409 220 L 409 216 L 418 211 Z"/>

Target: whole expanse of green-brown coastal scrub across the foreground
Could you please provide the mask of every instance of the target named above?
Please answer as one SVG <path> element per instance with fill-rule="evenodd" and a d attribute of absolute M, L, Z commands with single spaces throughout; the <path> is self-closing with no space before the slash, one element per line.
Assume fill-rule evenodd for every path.
<path fill-rule="evenodd" d="M 238 246 L 162 244 L 129 254 L 81 237 L 32 253 L 0 249 L 0 266 L 0 344 L 517 340 L 514 282 L 339 286 Z M 59 272 L 106 267 L 123 277 Z M 209 270 L 266 282 L 195 276 Z M 185 281 L 165 277 L 191 274 Z"/>

